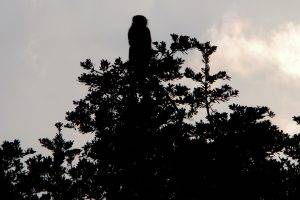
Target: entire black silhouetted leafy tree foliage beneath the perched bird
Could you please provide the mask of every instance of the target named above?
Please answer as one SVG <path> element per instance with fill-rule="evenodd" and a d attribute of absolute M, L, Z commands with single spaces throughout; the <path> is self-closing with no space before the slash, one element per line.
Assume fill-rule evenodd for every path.
<path fill-rule="evenodd" d="M 225 71 L 212 73 L 217 47 L 171 39 L 153 43 L 143 77 L 120 58 L 81 62 L 86 96 L 73 102 L 67 123 L 56 124 L 53 139 L 39 140 L 51 155 L 23 150 L 18 140 L 2 143 L 3 198 L 299 199 L 300 135 L 280 130 L 264 106 L 218 112 L 214 106 L 238 91 Z M 201 53 L 202 66 L 186 66 L 191 50 Z M 94 139 L 73 148 L 64 127 Z"/>

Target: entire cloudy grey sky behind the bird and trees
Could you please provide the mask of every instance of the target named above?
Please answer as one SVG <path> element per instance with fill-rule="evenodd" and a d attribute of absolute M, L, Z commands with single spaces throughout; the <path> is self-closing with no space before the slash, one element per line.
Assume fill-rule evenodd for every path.
<path fill-rule="evenodd" d="M 154 41 L 170 34 L 218 46 L 212 67 L 240 91 L 231 103 L 266 105 L 285 131 L 299 128 L 300 1 L 296 0 L 0 0 L 0 141 L 39 148 L 53 137 L 86 88 L 80 61 L 127 59 L 133 15 L 149 20 Z M 187 63 L 197 68 L 194 52 Z M 65 131 L 82 144 L 89 136 Z"/>

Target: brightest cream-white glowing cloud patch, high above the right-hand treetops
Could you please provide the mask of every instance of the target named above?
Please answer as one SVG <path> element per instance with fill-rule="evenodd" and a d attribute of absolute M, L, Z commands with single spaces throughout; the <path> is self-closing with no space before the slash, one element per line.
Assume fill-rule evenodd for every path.
<path fill-rule="evenodd" d="M 212 28 L 209 34 L 219 46 L 216 60 L 230 63 L 242 75 L 261 70 L 263 65 L 300 77 L 300 25 L 287 23 L 263 34 L 255 28 L 238 18 Z"/>

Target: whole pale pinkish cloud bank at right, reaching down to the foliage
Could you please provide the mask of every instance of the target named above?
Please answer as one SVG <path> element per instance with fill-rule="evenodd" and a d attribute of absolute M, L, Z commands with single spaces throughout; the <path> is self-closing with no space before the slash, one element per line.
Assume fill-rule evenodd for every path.
<path fill-rule="evenodd" d="M 292 116 L 300 115 L 300 24 L 289 22 L 263 31 L 231 15 L 208 35 L 218 46 L 213 65 L 225 66 L 231 84 L 240 90 L 236 102 L 269 106 L 280 128 L 299 131 Z"/>

